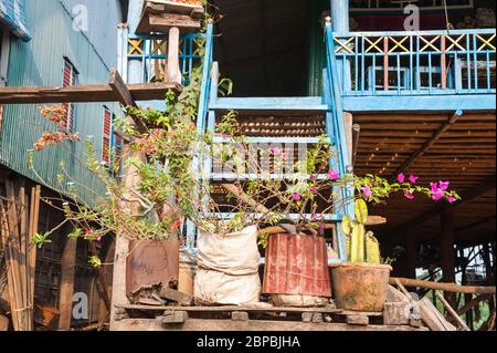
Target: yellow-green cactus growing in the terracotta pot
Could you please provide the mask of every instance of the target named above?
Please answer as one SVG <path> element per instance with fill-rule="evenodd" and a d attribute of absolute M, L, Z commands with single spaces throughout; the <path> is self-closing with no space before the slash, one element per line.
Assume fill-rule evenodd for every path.
<path fill-rule="evenodd" d="M 350 262 L 381 263 L 380 243 L 372 231 L 366 232 L 368 206 L 358 199 L 355 204 L 356 220 L 345 216 L 341 228 L 347 236 L 347 259 Z"/>

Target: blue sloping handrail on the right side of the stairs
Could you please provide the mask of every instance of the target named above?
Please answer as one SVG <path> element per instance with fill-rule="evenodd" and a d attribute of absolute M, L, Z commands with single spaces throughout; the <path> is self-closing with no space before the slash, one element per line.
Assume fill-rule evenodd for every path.
<path fill-rule="evenodd" d="M 339 76 L 339 72 L 342 71 L 339 68 L 343 66 L 343 63 L 338 63 L 335 42 L 334 42 L 334 33 L 331 30 L 330 21 L 326 23 L 326 39 L 327 39 L 327 68 L 324 71 L 324 92 L 326 103 L 328 105 L 328 112 L 326 114 L 326 128 L 328 136 L 331 137 L 336 143 L 337 155 L 331 160 L 330 167 L 337 169 L 340 177 L 343 177 L 347 173 L 350 173 L 350 150 L 348 147 L 347 138 L 346 138 L 346 129 L 343 124 L 343 108 L 342 108 L 342 91 Z M 340 209 L 337 209 L 336 212 L 339 214 L 340 218 L 343 215 L 353 218 L 353 188 L 336 188 L 334 193 L 340 193 L 342 198 L 342 205 Z M 347 260 L 346 253 L 346 236 L 341 230 L 341 227 L 337 227 L 338 235 L 338 255 L 341 261 Z"/>

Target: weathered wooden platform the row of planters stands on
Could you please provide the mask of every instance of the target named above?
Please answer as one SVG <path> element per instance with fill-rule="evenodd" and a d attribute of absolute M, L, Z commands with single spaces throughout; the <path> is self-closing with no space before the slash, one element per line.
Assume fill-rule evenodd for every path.
<path fill-rule="evenodd" d="M 113 331 L 426 331 L 384 325 L 382 313 L 335 308 L 152 307 L 117 308 Z"/>

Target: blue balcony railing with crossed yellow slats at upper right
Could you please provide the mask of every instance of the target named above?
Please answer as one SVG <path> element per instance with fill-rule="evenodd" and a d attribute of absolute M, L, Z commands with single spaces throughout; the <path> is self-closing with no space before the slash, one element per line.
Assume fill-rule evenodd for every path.
<path fill-rule="evenodd" d="M 332 33 L 343 95 L 495 93 L 496 30 Z M 328 45 L 329 46 L 329 45 Z"/>

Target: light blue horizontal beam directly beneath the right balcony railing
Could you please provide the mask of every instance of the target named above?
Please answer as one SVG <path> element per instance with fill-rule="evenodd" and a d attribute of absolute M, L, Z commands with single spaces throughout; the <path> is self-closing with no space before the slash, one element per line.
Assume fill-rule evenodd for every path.
<path fill-rule="evenodd" d="M 495 92 L 495 91 L 494 91 Z M 495 111 L 494 94 L 346 96 L 347 112 Z"/>

